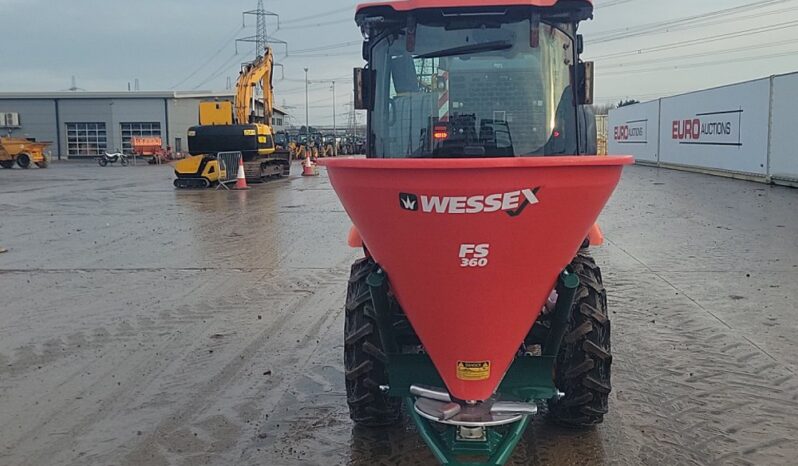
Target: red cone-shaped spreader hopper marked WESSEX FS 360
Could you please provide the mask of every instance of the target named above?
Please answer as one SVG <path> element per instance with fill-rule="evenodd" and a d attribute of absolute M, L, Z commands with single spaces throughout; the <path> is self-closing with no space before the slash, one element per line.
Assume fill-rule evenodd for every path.
<path fill-rule="evenodd" d="M 320 163 L 449 393 L 487 400 L 632 158 Z"/>

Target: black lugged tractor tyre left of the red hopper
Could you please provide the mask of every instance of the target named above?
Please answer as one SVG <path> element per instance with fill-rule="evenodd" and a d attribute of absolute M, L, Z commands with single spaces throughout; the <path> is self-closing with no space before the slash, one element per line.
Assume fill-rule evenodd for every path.
<path fill-rule="evenodd" d="M 380 342 L 374 305 L 366 279 L 375 269 L 364 258 L 352 264 L 346 294 L 344 370 L 349 417 L 363 426 L 387 426 L 401 418 L 401 399 L 387 396 L 380 385 L 388 384 L 387 359 Z"/>

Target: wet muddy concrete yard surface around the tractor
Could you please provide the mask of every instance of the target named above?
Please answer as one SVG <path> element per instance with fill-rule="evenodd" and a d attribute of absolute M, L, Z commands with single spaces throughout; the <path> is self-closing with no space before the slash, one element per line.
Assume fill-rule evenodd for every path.
<path fill-rule="evenodd" d="M 298 170 L 295 170 L 298 172 Z M 0 465 L 433 464 L 354 428 L 357 252 L 324 173 L 175 191 L 169 167 L 0 170 Z M 794 464 L 798 190 L 632 167 L 602 216 L 611 413 L 512 464 Z"/>

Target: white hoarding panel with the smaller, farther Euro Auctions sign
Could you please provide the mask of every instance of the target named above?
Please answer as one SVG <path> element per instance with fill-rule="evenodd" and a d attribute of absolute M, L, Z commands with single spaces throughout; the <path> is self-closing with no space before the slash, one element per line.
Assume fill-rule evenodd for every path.
<path fill-rule="evenodd" d="M 640 162 L 659 160 L 659 101 L 610 110 L 610 155 L 634 155 Z"/>

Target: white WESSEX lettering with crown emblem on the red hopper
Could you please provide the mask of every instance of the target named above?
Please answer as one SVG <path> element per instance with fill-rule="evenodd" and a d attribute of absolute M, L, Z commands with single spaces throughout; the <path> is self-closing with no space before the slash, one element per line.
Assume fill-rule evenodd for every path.
<path fill-rule="evenodd" d="M 517 217 L 530 205 L 540 201 L 540 188 L 478 196 L 427 196 L 399 193 L 399 207 L 427 214 L 482 214 L 504 211 Z"/>

